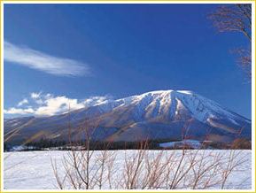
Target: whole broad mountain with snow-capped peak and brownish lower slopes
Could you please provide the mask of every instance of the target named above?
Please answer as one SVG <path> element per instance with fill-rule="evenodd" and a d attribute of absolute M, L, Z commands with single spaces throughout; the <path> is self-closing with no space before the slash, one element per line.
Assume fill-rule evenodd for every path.
<path fill-rule="evenodd" d="M 85 117 L 90 125 L 97 122 L 95 135 L 102 140 L 110 136 L 114 141 L 178 138 L 183 128 L 189 128 L 188 135 L 198 140 L 207 136 L 213 141 L 231 141 L 237 133 L 252 135 L 251 120 L 206 97 L 181 90 L 147 92 L 57 116 L 4 120 L 4 134 L 11 135 L 18 128 L 19 135 L 10 142 L 22 142 L 39 132 L 52 140 L 68 140 L 70 134 L 75 139 Z"/>

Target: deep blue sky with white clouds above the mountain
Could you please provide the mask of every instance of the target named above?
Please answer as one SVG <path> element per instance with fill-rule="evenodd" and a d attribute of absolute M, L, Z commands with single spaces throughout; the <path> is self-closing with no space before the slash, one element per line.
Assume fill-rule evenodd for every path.
<path fill-rule="evenodd" d="M 251 119 L 252 85 L 230 53 L 250 44 L 216 32 L 216 7 L 4 4 L 4 118 L 182 89 Z"/>

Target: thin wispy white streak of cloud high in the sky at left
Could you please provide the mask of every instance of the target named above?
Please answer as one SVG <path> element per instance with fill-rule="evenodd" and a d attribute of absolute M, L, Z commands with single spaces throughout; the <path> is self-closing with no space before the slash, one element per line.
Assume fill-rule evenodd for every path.
<path fill-rule="evenodd" d="M 60 76 L 89 75 L 89 66 L 70 58 L 50 56 L 4 41 L 4 60 Z"/>

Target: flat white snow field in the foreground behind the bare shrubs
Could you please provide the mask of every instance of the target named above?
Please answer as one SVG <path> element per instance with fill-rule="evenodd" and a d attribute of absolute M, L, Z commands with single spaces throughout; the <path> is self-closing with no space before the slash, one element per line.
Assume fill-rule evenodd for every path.
<path fill-rule="evenodd" d="M 75 151 L 78 156 L 81 157 L 80 151 Z M 103 151 L 94 151 L 92 159 L 90 161 L 91 176 L 96 174 L 98 165 L 97 158 Z M 126 183 L 128 181 L 128 173 L 126 169 L 134 163 L 137 164 L 137 157 L 139 151 L 108 151 L 113 161 L 111 183 L 112 189 L 128 189 Z M 162 156 L 159 155 L 162 153 Z M 224 185 L 224 189 L 252 189 L 252 156 L 251 151 L 224 151 L 224 150 L 200 150 L 200 151 L 186 151 L 182 160 L 182 164 L 177 169 L 182 158 L 182 151 L 144 151 L 144 158 L 142 165 L 139 167 L 137 176 L 135 177 L 135 183 L 133 189 L 171 189 L 172 183 L 176 183 L 179 177 L 184 174 L 185 177 L 177 183 L 175 189 L 192 189 L 195 176 L 198 171 L 203 173 L 207 166 L 211 166 L 215 160 L 219 161 L 218 166 L 213 167 L 212 170 L 207 170 L 206 174 L 198 179 L 196 189 L 221 189 L 221 175 L 228 168 L 230 158 L 234 158 L 233 165 L 237 165 L 229 174 L 227 181 Z M 58 183 L 54 176 L 52 163 L 56 163 L 56 168 L 60 179 L 66 174 L 64 166 L 64 158 L 66 160 L 72 160 L 72 151 L 22 151 L 22 152 L 4 152 L 4 189 L 59 189 Z M 195 157 L 194 157 L 195 155 Z M 71 156 L 71 157 L 70 157 Z M 70 159 L 71 158 L 71 159 Z M 147 159 L 148 158 L 148 159 Z M 162 167 L 165 171 L 159 169 L 160 179 L 167 176 L 167 168 L 171 168 L 169 171 L 169 180 L 163 180 L 163 183 L 145 183 L 145 176 L 151 176 L 153 174 L 153 168 L 157 168 L 156 161 L 163 166 L 167 160 L 169 160 L 169 167 Z M 168 159 L 170 158 L 170 159 Z M 193 162 L 193 169 L 190 168 L 191 160 L 195 158 Z M 126 160 L 128 165 L 126 166 Z M 147 163 L 151 163 L 151 172 L 147 171 Z M 155 164 L 152 164 L 155 163 Z M 200 164 L 201 163 L 201 164 Z M 231 166 L 231 165 L 230 165 Z M 160 167 L 159 167 L 160 168 Z M 200 169 L 199 169 L 200 168 Z M 80 168 L 81 169 L 81 168 Z M 217 171 L 214 171 L 217 170 Z M 188 170 L 188 173 L 186 171 Z M 104 178 L 106 178 L 107 170 L 104 170 Z M 175 172 L 178 171 L 178 177 L 173 181 Z M 222 171 L 222 172 L 221 172 Z M 130 170 L 131 174 L 132 170 Z M 73 173 L 75 175 L 75 173 Z M 157 173 L 156 173 L 157 174 Z M 209 187 L 206 186 L 208 181 Z M 219 181 L 219 182 L 217 182 Z M 216 182 L 216 184 L 214 184 Z M 145 187 L 143 185 L 146 184 Z M 212 184 L 212 185 L 211 185 Z M 211 185 L 211 186 L 210 186 Z M 91 188 L 99 189 L 96 183 Z M 85 188 L 81 185 L 81 188 Z M 102 189 L 110 189 L 109 181 L 105 180 L 102 184 Z M 131 187 L 129 187 L 131 188 Z M 64 189 L 74 189 L 74 186 L 70 181 L 66 180 L 64 183 Z"/>

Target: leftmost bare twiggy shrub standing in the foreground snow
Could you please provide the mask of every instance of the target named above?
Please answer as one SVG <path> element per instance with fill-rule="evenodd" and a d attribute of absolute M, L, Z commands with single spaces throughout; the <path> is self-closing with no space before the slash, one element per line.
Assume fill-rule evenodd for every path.
<path fill-rule="evenodd" d="M 74 142 L 70 121 L 68 122 L 71 151 L 63 159 L 66 174 L 62 179 L 58 174 L 56 163 L 52 164 L 58 188 L 64 189 L 67 182 L 67 185 L 71 185 L 73 189 L 102 189 L 105 183 L 108 183 L 112 189 L 111 176 L 114 173 L 113 162 L 116 153 L 108 151 L 111 140 L 108 140 L 108 143 L 101 143 L 102 151 L 96 152 L 97 142 L 103 139 L 102 135 L 96 134 L 97 120 L 91 117 L 87 119 L 85 114 Z"/>

